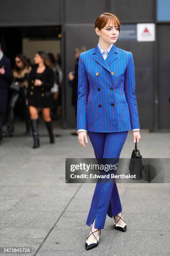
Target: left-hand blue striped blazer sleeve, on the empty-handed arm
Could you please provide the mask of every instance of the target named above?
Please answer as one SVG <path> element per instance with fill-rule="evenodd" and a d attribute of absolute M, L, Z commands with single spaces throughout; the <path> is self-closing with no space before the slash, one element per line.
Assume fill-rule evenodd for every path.
<path fill-rule="evenodd" d="M 85 69 L 83 53 L 80 54 L 78 64 L 78 90 L 77 90 L 77 130 L 87 130 L 87 102 L 89 95 L 89 81 Z"/>

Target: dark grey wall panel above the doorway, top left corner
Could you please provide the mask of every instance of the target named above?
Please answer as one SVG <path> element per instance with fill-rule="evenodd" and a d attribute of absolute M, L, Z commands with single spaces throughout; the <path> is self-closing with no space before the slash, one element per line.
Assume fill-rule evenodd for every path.
<path fill-rule="evenodd" d="M 0 26 L 59 25 L 60 0 L 0 1 Z"/>

